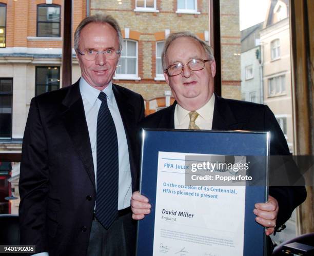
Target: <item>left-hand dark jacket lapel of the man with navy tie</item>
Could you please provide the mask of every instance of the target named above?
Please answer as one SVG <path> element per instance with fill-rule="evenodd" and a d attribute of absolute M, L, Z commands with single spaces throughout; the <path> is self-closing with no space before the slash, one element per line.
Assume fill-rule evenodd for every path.
<path fill-rule="evenodd" d="M 79 82 L 71 86 L 62 104 L 66 108 L 62 113 L 64 126 L 95 188 L 93 157 Z"/>

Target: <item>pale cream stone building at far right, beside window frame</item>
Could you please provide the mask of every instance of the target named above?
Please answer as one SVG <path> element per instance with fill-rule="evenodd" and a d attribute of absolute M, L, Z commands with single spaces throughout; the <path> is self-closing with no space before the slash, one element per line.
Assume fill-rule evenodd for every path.
<path fill-rule="evenodd" d="M 270 0 L 261 33 L 264 104 L 277 118 L 293 151 L 289 1 Z"/>

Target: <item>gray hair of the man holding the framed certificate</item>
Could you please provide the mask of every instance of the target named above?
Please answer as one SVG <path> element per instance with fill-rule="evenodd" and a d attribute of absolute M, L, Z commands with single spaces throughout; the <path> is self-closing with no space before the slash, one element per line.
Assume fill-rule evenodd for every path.
<path fill-rule="evenodd" d="M 203 40 L 201 40 L 197 35 L 189 32 L 189 31 L 171 33 L 167 37 L 167 40 L 165 42 L 165 46 L 164 46 L 164 49 L 163 49 L 163 52 L 162 52 L 162 56 L 161 56 L 162 57 L 162 64 L 163 64 L 163 69 L 164 70 L 167 68 L 166 64 L 165 64 L 165 57 L 166 57 L 166 54 L 167 54 L 167 50 L 168 50 L 170 44 L 174 40 L 176 40 L 176 38 L 179 38 L 179 37 L 191 37 L 191 38 L 193 38 L 195 41 L 197 41 L 197 42 L 199 42 L 201 44 L 202 48 L 204 49 L 205 53 L 207 54 L 208 60 L 210 60 L 210 61 L 214 61 L 215 60 L 211 47 L 208 44 L 206 44 Z"/>

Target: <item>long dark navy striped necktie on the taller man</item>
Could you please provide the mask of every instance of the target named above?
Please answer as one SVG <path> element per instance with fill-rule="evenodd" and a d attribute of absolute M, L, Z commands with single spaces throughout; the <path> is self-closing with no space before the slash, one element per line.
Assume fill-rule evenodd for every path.
<path fill-rule="evenodd" d="M 108 229 L 117 218 L 119 192 L 119 155 L 115 125 L 107 104 L 107 96 L 101 92 L 102 101 L 97 117 L 97 220 Z"/>

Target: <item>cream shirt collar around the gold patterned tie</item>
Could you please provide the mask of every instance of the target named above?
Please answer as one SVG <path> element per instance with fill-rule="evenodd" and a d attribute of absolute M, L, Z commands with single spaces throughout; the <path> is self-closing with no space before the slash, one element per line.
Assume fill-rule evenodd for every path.
<path fill-rule="evenodd" d="M 195 111 L 199 113 L 200 117 L 202 117 L 204 120 L 209 122 L 212 117 L 208 113 L 213 112 L 214 104 L 215 104 L 215 94 L 213 93 L 212 96 L 210 97 L 210 100 L 203 107 Z M 176 104 L 176 113 L 178 116 L 179 125 L 181 125 L 184 122 L 184 119 L 187 117 L 189 112 L 190 111 L 184 109 L 179 104 Z"/>

